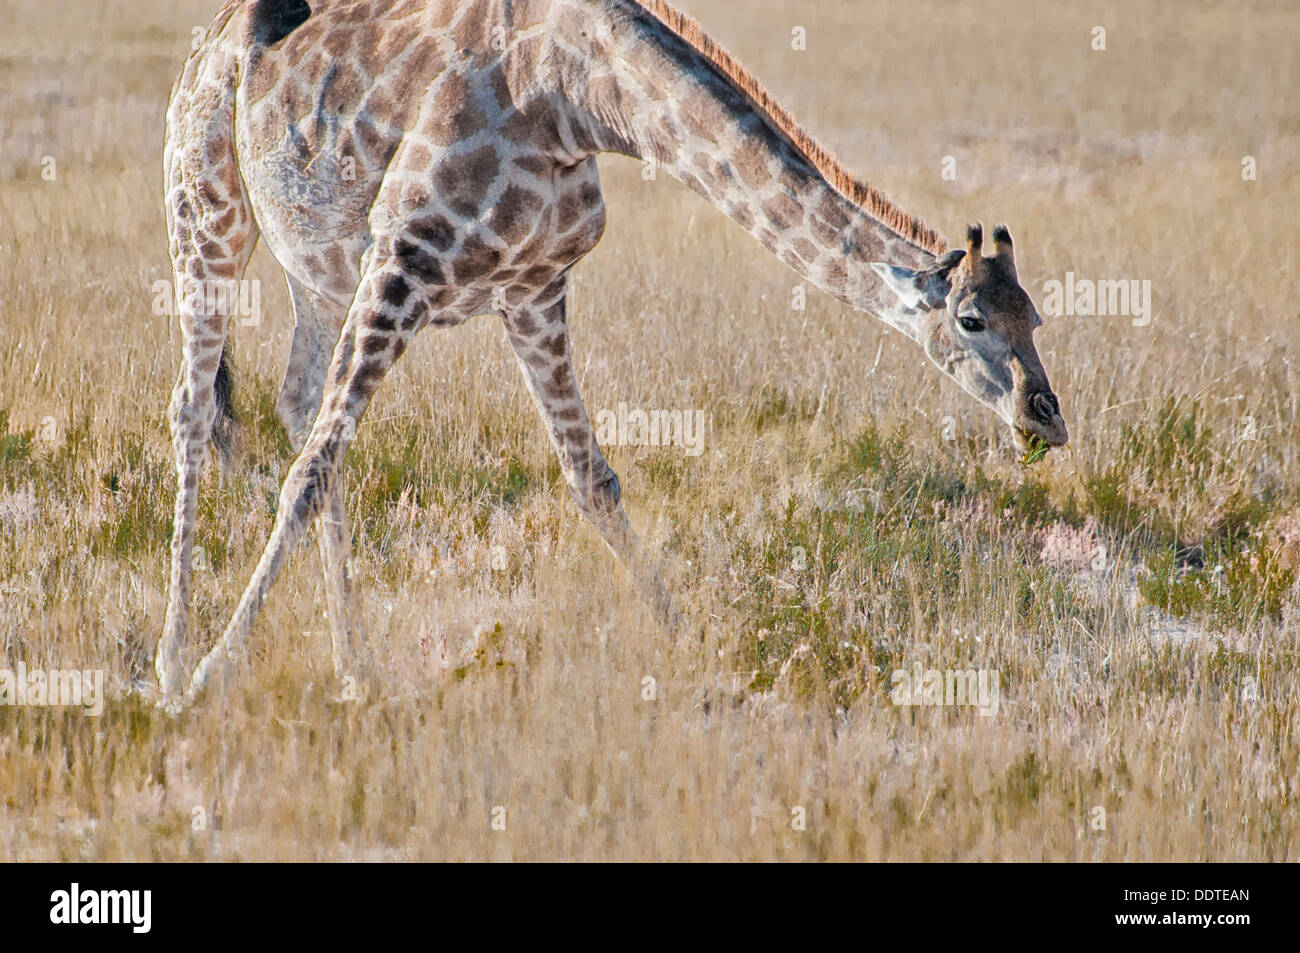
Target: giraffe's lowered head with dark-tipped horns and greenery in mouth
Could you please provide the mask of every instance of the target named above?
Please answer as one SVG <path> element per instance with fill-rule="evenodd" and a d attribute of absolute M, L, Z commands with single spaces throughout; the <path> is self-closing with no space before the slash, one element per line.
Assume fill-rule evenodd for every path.
<path fill-rule="evenodd" d="M 1043 324 L 1015 274 L 1015 251 L 1005 225 L 993 229 L 993 255 L 983 254 L 984 229 L 966 230 L 966 250 L 913 272 L 874 261 L 885 285 L 916 315 L 926 354 L 998 417 L 1027 450 L 1036 437 L 1050 447 L 1070 439 L 1061 404 L 1034 346 Z"/>

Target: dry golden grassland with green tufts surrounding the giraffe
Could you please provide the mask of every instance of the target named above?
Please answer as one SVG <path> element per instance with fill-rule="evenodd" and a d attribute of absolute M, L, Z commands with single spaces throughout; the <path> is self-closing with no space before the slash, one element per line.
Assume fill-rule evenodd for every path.
<path fill-rule="evenodd" d="M 309 543 L 243 681 L 169 718 L 160 143 L 216 5 L 0 12 L 0 667 L 101 668 L 110 696 L 0 707 L 0 858 L 1300 857 L 1290 4 L 685 0 L 950 241 L 1010 222 L 1040 306 L 1067 270 L 1152 282 L 1149 325 L 1039 332 L 1070 447 L 1020 467 L 898 334 L 793 308 L 794 273 L 608 157 L 573 346 L 593 415 L 711 419 L 699 456 L 608 447 L 681 631 L 581 521 L 480 317 L 416 342 L 348 458 L 385 697 L 337 701 Z M 204 482 L 190 664 L 291 459 L 287 295 L 265 250 L 248 277 L 265 317 L 234 334 L 244 426 Z M 997 714 L 894 706 L 915 664 L 992 670 Z"/>

